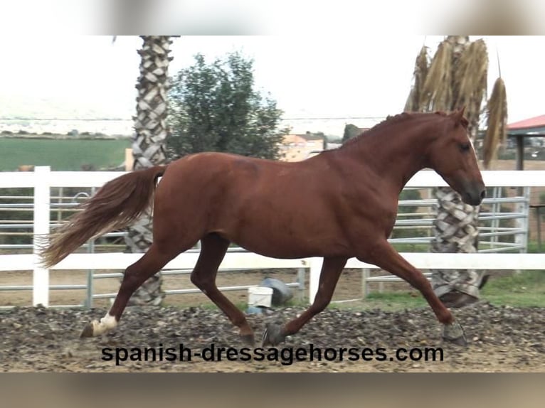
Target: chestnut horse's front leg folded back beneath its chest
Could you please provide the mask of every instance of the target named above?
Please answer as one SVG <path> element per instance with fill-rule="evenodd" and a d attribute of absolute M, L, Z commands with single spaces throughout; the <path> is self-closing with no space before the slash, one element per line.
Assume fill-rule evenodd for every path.
<path fill-rule="evenodd" d="M 277 345 L 285 340 L 287 335 L 292 335 L 301 330 L 302 326 L 319 312 L 324 310 L 331 301 L 337 281 L 341 276 L 346 258 L 324 258 L 322 271 L 319 277 L 319 286 L 312 305 L 301 316 L 287 322 L 284 326 L 268 323 L 263 333 L 262 345 Z"/>

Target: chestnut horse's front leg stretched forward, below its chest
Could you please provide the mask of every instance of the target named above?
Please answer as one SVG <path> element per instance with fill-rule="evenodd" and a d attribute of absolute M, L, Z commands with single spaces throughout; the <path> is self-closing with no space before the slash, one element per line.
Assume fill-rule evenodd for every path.
<path fill-rule="evenodd" d="M 375 264 L 391 274 L 397 275 L 401 279 L 411 284 L 413 288 L 418 289 L 425 300 L 433 309 L 438 321 L 443 323 L 443 338 L 450 342 L 466 345 L 465 334 L 460 323 L 454 320 L 453 314 L 445 307 L 443 302 L 433 292 L 428 279 L 418 269 L 409 264 L 388 241 L 375 245 L 364 256 L 358 257 L 362 262 Z"/>

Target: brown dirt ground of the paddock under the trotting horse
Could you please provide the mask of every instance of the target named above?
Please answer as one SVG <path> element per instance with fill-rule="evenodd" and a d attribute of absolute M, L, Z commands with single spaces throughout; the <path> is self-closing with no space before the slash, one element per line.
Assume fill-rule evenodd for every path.
<path fill-rule="evenodd" d="M 71 275 L 71 276 L 70 276 Z M 270 276 L 285 282 L 295 281 L 296 272 L 226 272 L 219 274 L 218 284 L 258 284 Z M 0 284 L 9 281 L 21 284 L 23 273 L 3 274 Z M 74 279 L 75 278 L 75 279 Z M 52 284 L 84 283 L 85 273 L 70 274 L 52 272 Z M 117 279 L 98 279 L 95 292 L 115 292 Z M 306 287 L 308 283 L 306 283 Z M 165 289 L 191 288 L 189 277 L 165 277 Z M 400 290 L 410 289 L 406 284 L 396 284 Z M 228 292 L 236 304 L 245 304 L 246 291 Z M 31 303 L 30 294 L 21 291 L 3 292 L 0 306 L 5 304 Z M 297 296 L 297 294 L 295 295 Z M 346 271 L 335 294 L 337 300 L 354 299 L 361 296 L 361 272 Z M 51 291 L 52 304 L 81 304 L 83 291 Z M 238 332 L 215 306 L 202 294 L 171 295 L 165 307 L 127 308 L 120 326 L 99 338 L 79 339 L 85 323 L 92 318 L 102 317 L 109 301 L 95 301 L 95 308 L 32 308 L 17 307 L 0 312 L 0 370 L 2 371 L 53 371 L 53 372 L 117 372 L 117 371 L 173 371 L 173 372 L 542 372 L 545 371 L 545 310 L 543 308 L 496 307 L 481 303 L 455 310 L 455 316 L 465 328 L 467 347 L 444 343 L 441 326 L 435 320 L 430 308 L 416 308 L 406 311 L 388 312 L 363 310 L 361 304 L 344 304 L 342 308 L 329 308 L 320 313 L 300 333 L 287 338 L 277 351 L 260 353 L 257 360 L 168 361 L 159 359 L 159 353 L 167 348 L 178 350 L 180 345 L 195 350 L 210 351 L 211 345 L 218 348 L 243 348 Z M 195 307 L 190 305 L 200 304 Z M 305 306 L 275 308 L 270 314 L 248 315 L 248 321 L 255 330 L 256 346 L 268 321 L 287 321 L 302 313 Z M 118 357 L 127 354 L 126 361 L 115 362 L 115 349 L 120 348 Z M 148 360 L 142 355 L 151 354 Z M 151 349 L 154 350 L 151 350 Z M 301 361 L 293 358 L 297 348 L 307 350 Z M 320 348 L 329 350 L 318 360 L 310 351 Z M 356 355 L 340 358 L 339 348 L 352 348 Z M 361 358 L 364 348 L 369 361 Z M 383 348 L 383 350 L 377 350 Z M 416 357 L 425 348 L 443 348 L 443 360 L 405 360 L 393 357 L 398 348 L 414 350 Z M 112 355 L 108 358 L 103 349 Z M 292 351 L 290 351 L 292 350 Z M 136 354 L 134 354 L 136 353 Z M 139 356 L 140 353 L 140 356 Z M 234 352 L 233 352 L 234 353 Z M 282 354 L 279 354 L 282 353 Z M 290 357 L 290 353 L 292 353 Z M 300 353 L 303 353 L 300 351 Z M 324 352 L 325 353 L 325 352 Z M 382 354 L 381 354 L 382 353 Z M 133 359 L 130 360 L 129 355 Z M 267 355 L 268 357 L 263 357 Z M 381 355 L 386 355 L 381 361 Z M 349 358 L 351 356 L 351 358 Z M 165 355 L 163 355 L 165 357 Z M 255 354 L 254 354 L 255 357 Z M 268 360 L 270 359 L 270 360 Z"/>

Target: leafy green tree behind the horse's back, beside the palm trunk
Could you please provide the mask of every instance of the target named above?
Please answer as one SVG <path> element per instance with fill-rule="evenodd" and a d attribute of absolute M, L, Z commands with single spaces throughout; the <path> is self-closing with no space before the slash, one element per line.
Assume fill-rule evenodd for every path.
<path fill-rule="evenodd" d="M 254 89 L 253 60 L 240 53 L 206 63 L 203 55 L 171 79 L 171 159 L 199 151 L 228 151 L 263 159 L 280 158 L 282 111 Z"/>

